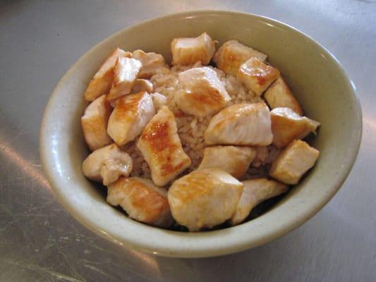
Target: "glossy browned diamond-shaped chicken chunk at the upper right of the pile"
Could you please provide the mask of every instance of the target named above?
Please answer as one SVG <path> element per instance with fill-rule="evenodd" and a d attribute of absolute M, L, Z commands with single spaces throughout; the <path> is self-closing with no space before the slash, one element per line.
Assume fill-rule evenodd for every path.
<path fill-rule="evenodd" d="M 258 95 L 261 95 L 278 76 L 279 71 L 277 68 L 262 63 L 257 58 L 250 58 L 245 61 L 236 75 L 238 80 L 243 82 L 248 90 L 252 90 Z"/>

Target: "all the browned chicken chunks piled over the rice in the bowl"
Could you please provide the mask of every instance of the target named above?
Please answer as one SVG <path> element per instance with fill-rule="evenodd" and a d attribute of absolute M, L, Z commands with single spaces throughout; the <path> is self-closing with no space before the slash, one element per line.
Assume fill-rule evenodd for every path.
<path fill-rule="evenodd" d="M 214 115 L 205 131 L 205 151 L 196 171 L 183 151 L 174 114 L 164 95 L 153 93 L 152 75 L 168 73 L 160 54 L 116 49 L 104 61 L 85 92 L 81 119 L 87 145 L 93 151 L 83 173 L 108 188 L 107 202 L 120 205 L 137 221 L 169 227 L 174 221 L 189 231 L 229 222 L 243 222 L 258 203 L 276 197 L 298 183 L 313 167 L 319 152 L 301 139 L 320 125 L 303 116 L 293 93 L 267 56 L 230 40 L 215 50 L 206 33 L 171 42 L 174 66 L 183 91 L 175 102 L 187 115 Z M 234 104 L 211 67 L 236 78 L 267 104 Z M 271 111 L 269 110 L 272 109 Z M 151 171 L 151 180 L 129 177 L 133 160 L 124 146 L 135 141 Z M 282 151 L 269 176 L 240 181 L 255 159 L 257 147 L 274 145 Z M 177 179 L 176 179 L 177 178 Z M 167 190 L 168 189 L 168 190 Z"/>

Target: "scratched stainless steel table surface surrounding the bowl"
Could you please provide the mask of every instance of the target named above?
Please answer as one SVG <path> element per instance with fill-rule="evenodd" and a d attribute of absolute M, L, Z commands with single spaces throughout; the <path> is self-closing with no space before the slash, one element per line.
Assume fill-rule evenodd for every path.
<path fill-rule="evenodd" d="M 376 281 L 375 2 L 0 1 L 0 281 Z M 56 202 L 38 152 L 44 106 L 61 75 L 105 37 L 209 8 L 281 20 L 332 51 L 363 106 L 358 160 L 319 214 L 262 247 L 211 259 L 119 249 Z"/>

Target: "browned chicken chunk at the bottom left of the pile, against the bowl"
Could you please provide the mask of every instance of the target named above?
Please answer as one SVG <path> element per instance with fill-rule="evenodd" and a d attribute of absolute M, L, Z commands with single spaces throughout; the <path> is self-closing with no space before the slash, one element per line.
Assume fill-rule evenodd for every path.
<path fill-rule="evenodd" d="M 169 227 L 174 221 L 167 191 L 148 179 L 119 178 L 109 185 L 107 202 L 115 207 L 120 205 L 132 219 L 152 226 Z"/>

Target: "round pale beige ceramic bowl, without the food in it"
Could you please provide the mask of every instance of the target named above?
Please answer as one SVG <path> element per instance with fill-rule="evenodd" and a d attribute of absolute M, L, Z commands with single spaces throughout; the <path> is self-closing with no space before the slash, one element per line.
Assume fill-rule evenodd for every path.
<path fill-rule="evenodd" d="M 222 44 L 229 39 L 269 55 L 310 118 L 320 121 L 313 141 L 320 158 L 308 176 L 269 212 L 240 226 L 206 233 L 178 233 L 146 226 L 110 207 L 81 173 L 87 156 L 80 128 L 87 104 L 83 92 L 115 47 L 154 51 L 170 61 L 175 37 L 207 32 Z M 116 33 L 81 57 L 57 85 L 41 127 L 44 171 L 57 197 L 88 228 L 115 243 L 176 257 L 209 257 L 254 247 L 291 231 L 320 210 L 339 189 L 355 161 L 361 111 L 339 63 L 301 32 L 274 20 L 243 13 L 199 11 L 150 20 Z"/>

